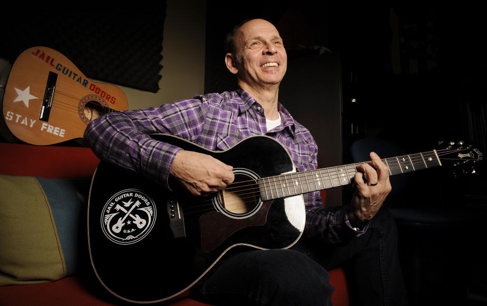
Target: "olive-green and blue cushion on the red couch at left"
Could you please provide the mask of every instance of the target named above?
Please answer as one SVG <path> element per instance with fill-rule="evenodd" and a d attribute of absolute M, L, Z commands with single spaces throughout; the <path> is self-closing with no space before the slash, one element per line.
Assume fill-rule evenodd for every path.
<path fill-rule="evenodd" d="M 76 271 L 87 193 L 77 181 L 0 175 L 0 286 Z M 83 223 L 83 224 L 82 224 Z"/>

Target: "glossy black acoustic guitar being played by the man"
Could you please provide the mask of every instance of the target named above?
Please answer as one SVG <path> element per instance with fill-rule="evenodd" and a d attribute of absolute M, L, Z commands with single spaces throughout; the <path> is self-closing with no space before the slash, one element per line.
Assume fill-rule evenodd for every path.
<path fill-rule="evenodd" d="M 350 184 L 357 173 L 357 164 L 297 173 L 287 150 L 266 136 L 247 138 L 222 152 L 170 135 L 153 137 L 232 165 L 235 182 L 211 196 L 194 197 L 99 164 L 88 208 L 91 261 L 102 285 L 132 302 L 185 295 L 227 253 L 292 246 L 304 230 L 302 194 Z M 449 146 L 383 161 L 395 175 L 439 166 L 443 160 L 481 159 L 471 146 Z"/>

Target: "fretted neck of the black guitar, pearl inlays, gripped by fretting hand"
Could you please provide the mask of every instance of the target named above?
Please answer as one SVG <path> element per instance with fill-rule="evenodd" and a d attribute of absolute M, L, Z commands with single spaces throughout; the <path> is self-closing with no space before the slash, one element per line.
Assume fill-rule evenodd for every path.
<path fill-rule="evenodd" d="M 389 175 L 402 174 L 441 165 L 440 158 L 435 150 L 384 158 L 382 162 L 389 167 Z M 357 173 L 357 165 L 362 163 L 352 163 L 263 178 L 259 180 L 260 195 L 263 200 L 270 200 L 348 185 Z"/>

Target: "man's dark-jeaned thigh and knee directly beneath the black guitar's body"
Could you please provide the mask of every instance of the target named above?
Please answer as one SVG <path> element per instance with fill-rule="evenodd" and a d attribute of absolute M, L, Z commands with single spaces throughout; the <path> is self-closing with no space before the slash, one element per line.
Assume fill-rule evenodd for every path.
<path fill-rule="evenodd" d="M 250 251 L 223 258 L 201 287 L 208 301 L 232 304 L 331 304 L 327 271 L 294 250 Z"/>

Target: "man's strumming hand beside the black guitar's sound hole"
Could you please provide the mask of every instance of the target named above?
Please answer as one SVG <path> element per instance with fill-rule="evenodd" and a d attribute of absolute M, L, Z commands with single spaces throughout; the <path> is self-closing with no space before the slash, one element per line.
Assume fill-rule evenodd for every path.
<path fill-rule="evenodd" d="M 189 192 L 201 196 L 232 183 L 232 169 L 210 155 L 181 150 L 176 154 L 169 174 Z"/>

